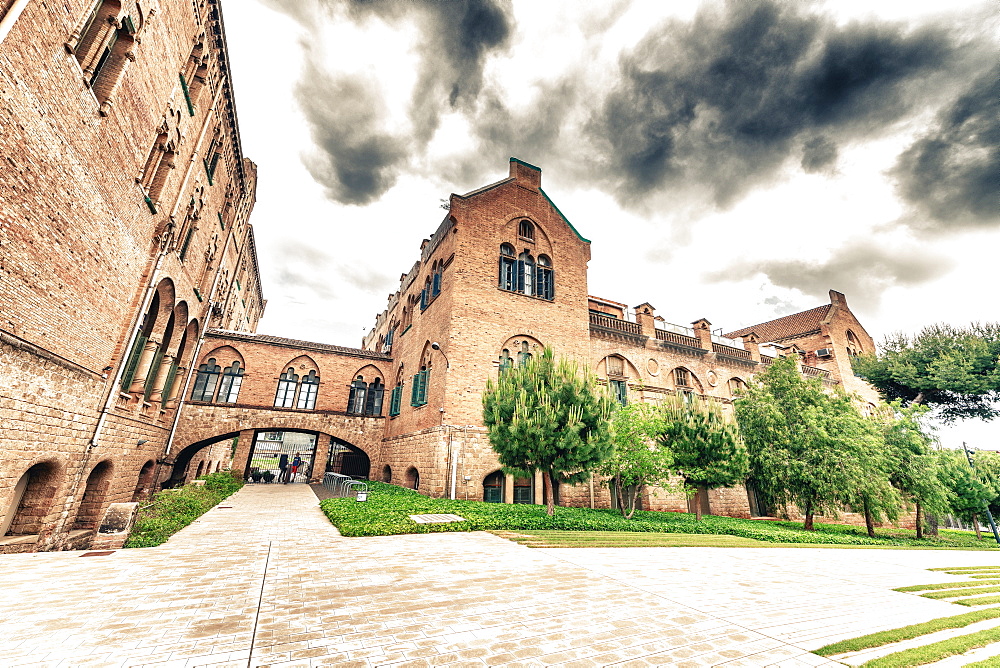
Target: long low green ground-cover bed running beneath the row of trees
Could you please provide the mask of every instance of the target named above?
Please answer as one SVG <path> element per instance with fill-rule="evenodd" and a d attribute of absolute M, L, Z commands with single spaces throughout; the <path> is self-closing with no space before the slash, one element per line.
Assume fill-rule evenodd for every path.
<path fill-rule="evenodd" d="M 822 543 L 832 545 L 940 545 L 956 548 L 988 547 L 974 536 L 959 532 L 941 532 L 937 541 L 918 541 L 913 532 L 880 530 L 878 538 L 869 538 L 864 527 L 817 524 L 816 531 L 803 531 L 801 523 L 767 520 L 741 520 L 706 516 L 701 522 L 689 513 L 636 511 L 631 520 L 612 510 L 556 508 L 555 515 L 545 514 L 545 506 L 483 503 L 431 499 L 411 489 L 378 482 L 368 483 L 368 500 L 353 497 L 326 499 L 320 507 L 344 536 L 391 536 L 407 533 L 446 531 L 646 531 L 652 533 L 715 534 L 740 536 L 771 543 Z M 464 522 L 417 524 L 409 515 L 453 513 Z"/>

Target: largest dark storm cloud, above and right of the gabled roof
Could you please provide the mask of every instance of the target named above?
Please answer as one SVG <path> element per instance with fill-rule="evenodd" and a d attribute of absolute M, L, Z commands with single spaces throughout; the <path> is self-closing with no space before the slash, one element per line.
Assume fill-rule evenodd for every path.
<path fill-rule="evenodd" d="M 842 143 L 884 132 L 921 103 L 918 84 L 956 48 L 943 28 L 837 26 L 807 7 L 702 9 L 621 56 L 588 129 L 620 201 L 700 184 L 726 206 L 789 157 L 829 169 Z"/>

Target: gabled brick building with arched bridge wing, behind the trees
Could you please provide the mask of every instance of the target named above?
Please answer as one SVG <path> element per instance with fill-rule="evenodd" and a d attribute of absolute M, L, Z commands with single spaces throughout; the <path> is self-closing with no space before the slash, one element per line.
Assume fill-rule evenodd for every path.
<path fill-rule="evenodd" d="M 334 456 L 346 450 L 372 479 L 431 496 L 540 503 L 539 480 L 499 470 L 481 397 L 502 367 L 543 347 L 581 361 L 623 401 L 681 394 L 728 410 L 777 355 L 794 355 L 803 374 L 830 387 L 876 400 L 850 372 L 850 356 L 871 350 L 872 339 L 838 292 L 830 304 L 722 336 L 704 318 L 675 325 L 650 303 L 629 308 L 589 295 L 589 260 L 590 242 L 545 194 L 541 171 L 511 159 L 507 178 L 451 196 L 360 349 L 209 331 L 170 455 L 175 478 L 192 475 L 208 444 L 234 437 L 235 467 L 249 474 L 259 469 L 255 453 L 273 448 L 272 434 L 301 431 L 317 435 L 314 480 L 327 470 L 357 474 Z M 234 384 L 226 368 L 242 370 L 236 393 L 224 391 Z M 559 494 L 561 503 L 610 503 L 600 480 Z M 649 490 L 644 503 L 689 507 L 662 490 Z M 735 516 L 759 510 L 742 487 L 690 503 Z"/>

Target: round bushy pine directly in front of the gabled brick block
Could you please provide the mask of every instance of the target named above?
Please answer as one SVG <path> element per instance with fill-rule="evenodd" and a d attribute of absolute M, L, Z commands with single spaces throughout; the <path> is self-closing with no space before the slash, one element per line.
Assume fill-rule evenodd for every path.
<path fill-rule="evenodd" d="M 593 376 L 547 348 L 486 384 L 483 421 L 505 469 L 542 472 L 552 515 L 552 481 L 581 482 L 611 454 L 613 406 Z"/>

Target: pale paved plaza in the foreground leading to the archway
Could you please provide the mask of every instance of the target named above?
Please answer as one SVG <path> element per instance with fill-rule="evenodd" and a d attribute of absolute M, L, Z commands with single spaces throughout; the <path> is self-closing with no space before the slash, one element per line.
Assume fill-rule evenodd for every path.
<path fill-rule="evenodd" d="M 966 609 L 890 591 L 989 552 L 531 549 L 342 538 L 252 485 L 156 548 L 0 556 L 0 666 L 836 665 L 834 640 Z"/>

